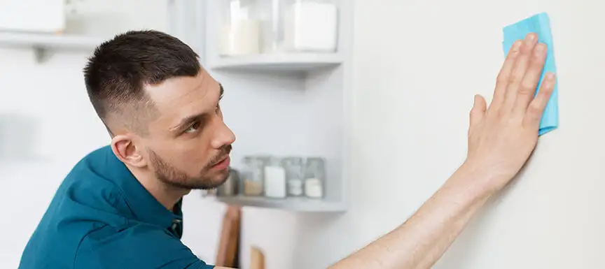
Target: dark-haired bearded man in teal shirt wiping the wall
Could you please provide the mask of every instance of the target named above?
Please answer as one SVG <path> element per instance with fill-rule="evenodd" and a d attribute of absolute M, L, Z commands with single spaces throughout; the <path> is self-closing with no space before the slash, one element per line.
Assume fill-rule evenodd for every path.
<path fill-rule="evenodd" d="M 430 268 L 534 150 L 555 84 L 546 75 L 534 96 L 545 55 L 534 34 L 517 41 L 489 108 L 475 96 L 464 164 L 405 224 L 331 268 Z M 100 45 L 84 73 L 111 145 L 64 179 L 20 268 L 214 268 L 181 243 L 181 199 L 228 176 L 235 136 L 223 122 L 223 88 L 193 50 L 158 31 Z"/>

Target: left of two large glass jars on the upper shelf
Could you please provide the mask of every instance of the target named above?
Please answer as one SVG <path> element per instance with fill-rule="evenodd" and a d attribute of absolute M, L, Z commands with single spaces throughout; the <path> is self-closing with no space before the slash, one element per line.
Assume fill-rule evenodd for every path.
<path fill-rule="evenodd" d="M 228 0 L 222 7 L 223 20 L 219 29 L 221 56 L 239 56 L 262 52 L 260 1 Z"/>

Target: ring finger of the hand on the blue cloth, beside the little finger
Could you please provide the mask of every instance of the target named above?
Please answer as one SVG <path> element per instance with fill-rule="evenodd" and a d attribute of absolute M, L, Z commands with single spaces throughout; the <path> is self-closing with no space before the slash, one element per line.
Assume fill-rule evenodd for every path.
<path fill-rule="evenodd" d="M 531 60 L 529 62 L 529 67 L 527 68 L 527 73 L 525 73 L 525 76 L 519 85 L 513 113 L 524 115 L 527 106 L 529 106 L 529 102 L 534 99 L 538 82 L 540 82 L 542 76 L 547 49 L 545 44 L 537 44 L 536 47 L 534 47 L 534 51 L 531 53 Z"/>

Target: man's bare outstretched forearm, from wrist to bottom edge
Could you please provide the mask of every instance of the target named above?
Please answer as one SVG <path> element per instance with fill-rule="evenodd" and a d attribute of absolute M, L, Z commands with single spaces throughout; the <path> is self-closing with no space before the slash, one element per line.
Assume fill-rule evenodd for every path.
<path fill-rule="evenodd" d="M 461 167 L 405 224 L 331 269 L 430 268 L 489 198 L 475 177 Z"/>

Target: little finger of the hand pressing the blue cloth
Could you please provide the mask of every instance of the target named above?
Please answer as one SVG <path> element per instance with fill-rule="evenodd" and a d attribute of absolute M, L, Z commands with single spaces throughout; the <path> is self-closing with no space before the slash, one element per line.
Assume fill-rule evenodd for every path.
<path fill-rule="evenodd" d="M 538 129 L 546 104 L 548 104 L 552 90 L 555 89 L 555 83 L 555 74 L 547 73 L 544 75 L 544 80 L 538 94 L 536 94 L 536 98 L 527 106 L 527 112 L 523 119 L 525 126 Z"/>

